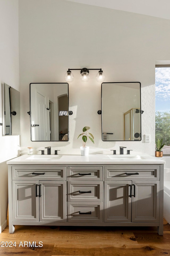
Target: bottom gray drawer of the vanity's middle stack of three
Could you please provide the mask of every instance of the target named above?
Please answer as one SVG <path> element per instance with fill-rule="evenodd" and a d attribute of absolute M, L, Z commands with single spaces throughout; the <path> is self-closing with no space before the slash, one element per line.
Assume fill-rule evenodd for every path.
<path fill-rule="evenodd" d="M 103 203 L 68 202 L 68 222 L 102 222 Z"/>

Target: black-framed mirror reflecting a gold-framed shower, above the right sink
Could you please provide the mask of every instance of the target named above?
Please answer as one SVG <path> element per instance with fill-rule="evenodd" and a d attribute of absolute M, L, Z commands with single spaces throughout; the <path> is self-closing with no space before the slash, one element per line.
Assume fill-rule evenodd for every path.
<path fill-rule="evenodd" d="M 101 84 L 102 140 L 141 140 L 141 83 Z"/>

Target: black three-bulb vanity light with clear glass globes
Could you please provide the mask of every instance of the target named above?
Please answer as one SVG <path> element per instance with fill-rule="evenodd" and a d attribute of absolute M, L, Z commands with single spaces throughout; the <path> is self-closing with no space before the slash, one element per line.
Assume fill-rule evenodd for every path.
<path fill-rule="evenodd" d="M 105 80 L 105 74 L 103 73 L 103 70 L 101 70 L 101 68 L 69 68 L 67 70 L 67 73 L 65 73 L 64 75 L 64 79 L 66 82 L 73 82 L 74 79 L 74 75 L 71 73 L 71 70 L 80 70 L 80 74 L 81 74 L 81 79 L 83 82 L 87 82 L 89 80 L 89 70 L 99 70 L 99 72 L 96 75 L 96 80 L 97 82 L 103 82 Z"/>

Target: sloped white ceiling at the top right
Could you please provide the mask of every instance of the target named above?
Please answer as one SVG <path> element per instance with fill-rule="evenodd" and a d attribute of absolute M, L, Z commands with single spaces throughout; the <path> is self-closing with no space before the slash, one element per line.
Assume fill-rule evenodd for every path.
<path fill-rule="evenodd" d="M 67 0 L 170 19 L 170 0 Z"/>

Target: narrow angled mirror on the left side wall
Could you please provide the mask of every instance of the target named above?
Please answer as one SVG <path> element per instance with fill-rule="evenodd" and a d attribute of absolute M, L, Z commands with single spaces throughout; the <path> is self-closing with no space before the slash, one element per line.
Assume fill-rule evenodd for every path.
<path fill-rule="evenodd" d="M 20 135 L 20 92 L 2 84 L 2 135 Z"/>

